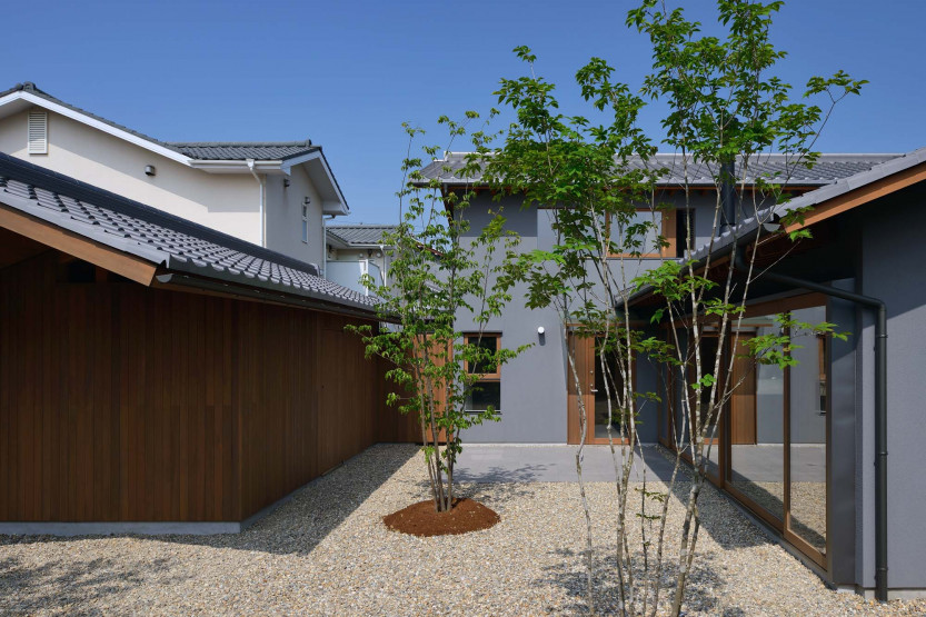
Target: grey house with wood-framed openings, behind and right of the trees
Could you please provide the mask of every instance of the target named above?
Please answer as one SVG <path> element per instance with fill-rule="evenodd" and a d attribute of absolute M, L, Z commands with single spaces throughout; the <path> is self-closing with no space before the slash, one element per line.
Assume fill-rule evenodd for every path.
<path fill-rule="evenodd" d="M 424 172 L 439 178 L 445 191 L 478 187 L 479 178 L 455 176 L 462 162 L 462 155 L 448 153 Z M 715 233 L 715 181 L 690 161 L 683 178 L 681 162 L 673 155 L 656 157 L 656 166 L 669 173 L 658 183 L 655 199 L 675 208 L 645 212 L 661 217 L 669 247 L 640 259 L 615 259 L 615 267 L 619 262 L 625 268 L 624 280 L 681 257 L 689 230 L 693 246 L 701 247 L 694 259 L 710 255 L 713 268 L 726 276 L 734 242 L 745 249 L 765 233 L 757 261 L 763 275 L 750 286 L 739 345 L 777 331 L 775 316 L 783 312 L 850 332 L 847 341 L 794 335 L 803 336 L 795 340 L 799 362 L 780 369 L 755 366 L 741 349 L 731 348 L 729 339 L 721 348 L 706 331 L 703 357 L 734 358 L 733 382 L 741 384 L 713 428 L 708 477 L 828 584 L 880 598 L 926 593 L 926 480 L 919 472 L 926 438 L 926 278 L 918 261 L 919 233 L 926 226 L 926 149 L 907 155 L 823 155 L 813 169 L 794 173 L 785 186 L 791 200 L 784 210 L 808 210 L 803 223 L 785 231 L 803 225 L 813 233 L 797 247 L 780 233 L 771 210 L 760 210 L 758 220 L 755 213 L 739 215 L 735 231 Z M 754 173 L 780 176 L 783 163 L 775 155 L 761 157 Z M 687 201 L 684 185 L 689 189 Z M 516 196 L 498 202 L 490 192 L 479 191 L 466 210 L 470 233 L 478 233 L 489 209 L 502 207 L 508 227 L 521 236 L 520 250 L 552 247 L 548 206 L 525 208 Z M 741 276 L 743 265 L 733 267 Z M 487 329 L 507 348 L 534 345 L 505 365 L 481 397 L 494 397 L 490 402 L 500 410 L 501 421 L 474 427 L 466 439 L 577 442 L 578 395 L 567 370 L 570 346 L 584 369 L 579 372 L 586 408 L 595 410 L 588 441 L 601 442 L 607 415 L 597 412 L 604 388 L 596 387 L 594 341 L 574 338 L 552 309 L 525 308 L 517 301 L 521 291 L 514 291 L 516 301 Z M 649 324 L 658 299 L 644 290 L 630 301 L 640 324 Z M 466 315 L 459 319 L 462 331 L 476 330 Z M 650 329 L 670 335 L 664 325 Z M 661 399 L 637 406 L 641 441 L 684 447 L 683 401 L 695 396 L 686 384 L 690 376 L 686 379 L 678 369 L 646 358 L 637 358 L 636 367 L 634 388 L 659 392 Z"/>

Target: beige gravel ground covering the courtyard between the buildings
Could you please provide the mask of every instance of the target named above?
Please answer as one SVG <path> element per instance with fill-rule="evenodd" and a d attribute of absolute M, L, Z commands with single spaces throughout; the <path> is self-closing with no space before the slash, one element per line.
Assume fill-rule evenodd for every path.
<path fill-rule="evenodd" d="M 462 492 L 501 521 L 464 536 L 416 538 L 387 530 L 380 518 L 427 497 L 418 456 L 414 446 L 375 446 L 236 536 L 0 536 L 0 615 L 585 610 L 577 485 L 465 484 Z M 597 520 L 607 520 L 613 486 L 593 484 L 589 497 Z M 878 606 L 827 589 L 713 488 L 701 510 L 687 615 L 926 614 L 924 600 Z M 604 558 L 611 527 L 596 534 Z M 615 598 L 601 587 L 599 609 L 607 613 Z"/>

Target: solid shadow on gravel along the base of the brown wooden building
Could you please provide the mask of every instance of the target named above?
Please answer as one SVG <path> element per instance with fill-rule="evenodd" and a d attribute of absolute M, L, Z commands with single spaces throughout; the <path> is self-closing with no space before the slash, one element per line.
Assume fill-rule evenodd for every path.
<path fill-rule="evenodd" d="M 419 451 L 419 446 L 407 444 L 372 446 L 347 460 L 341 467 L 296 489 L 286 502 L 241 534 L 212 536 L 122 534 L 78 538 L 136 537 L 140 540 L 276 555 L 306 555 L 311 553 L 328 534 L 343 523 L 374 491 Z M 0 536 L 0 548 L 6 544 L 67 543 L 73 539 L 76 538 Z"/>

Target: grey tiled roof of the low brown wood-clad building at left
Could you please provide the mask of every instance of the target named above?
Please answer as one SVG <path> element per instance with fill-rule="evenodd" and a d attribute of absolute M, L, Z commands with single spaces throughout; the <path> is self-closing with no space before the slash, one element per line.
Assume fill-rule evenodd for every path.
<path fill-rule="evenodd" d="M 3 153 L 0 202 L 168 270 L 299 296 L 332 310 L 374 314 L 378 303 L 319 277 L 311 263 Z"/>

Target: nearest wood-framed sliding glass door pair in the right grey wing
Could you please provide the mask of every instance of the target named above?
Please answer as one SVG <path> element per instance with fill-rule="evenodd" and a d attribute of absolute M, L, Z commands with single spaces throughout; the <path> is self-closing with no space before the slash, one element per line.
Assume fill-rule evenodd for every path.
<path fill-rule="evenodd" d="M 776 315 L 787 312 L 797 322 L 824 322 L 823 301 L 805 296 L 776 303 L 776 312 L 757 315 L 760 307 L 751 309 L 743 319 L 738 345 L 750 337 L 784 335 L 796 364 L 780 368 L 747 358 L 741 360 L 739 371 L 735 369 L 741 382 L 727 414 L 730 439 L 725 447 L 729 465 L 724 486 L 825 568 L 826 338 L 806 328 L 783 329 L 776 319 Z"/>

